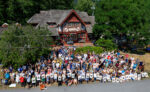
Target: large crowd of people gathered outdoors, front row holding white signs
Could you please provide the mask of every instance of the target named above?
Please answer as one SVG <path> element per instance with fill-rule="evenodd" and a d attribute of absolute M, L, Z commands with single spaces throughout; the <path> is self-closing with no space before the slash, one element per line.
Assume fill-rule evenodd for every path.
<path fill-rule="evenodd" d="M 148 77 L 142 61 L 121 55 L 119 51 L 75 53 L 76 48 L 61 47 L 51 50 L 47 58 L 41 57 L 36 64 L 4 69 L 4 84 L 18 83 L 22 87 L 36 87 L 40 83 L 51 85 L 78 85 L 83 82 L 125 82 Z"/>

